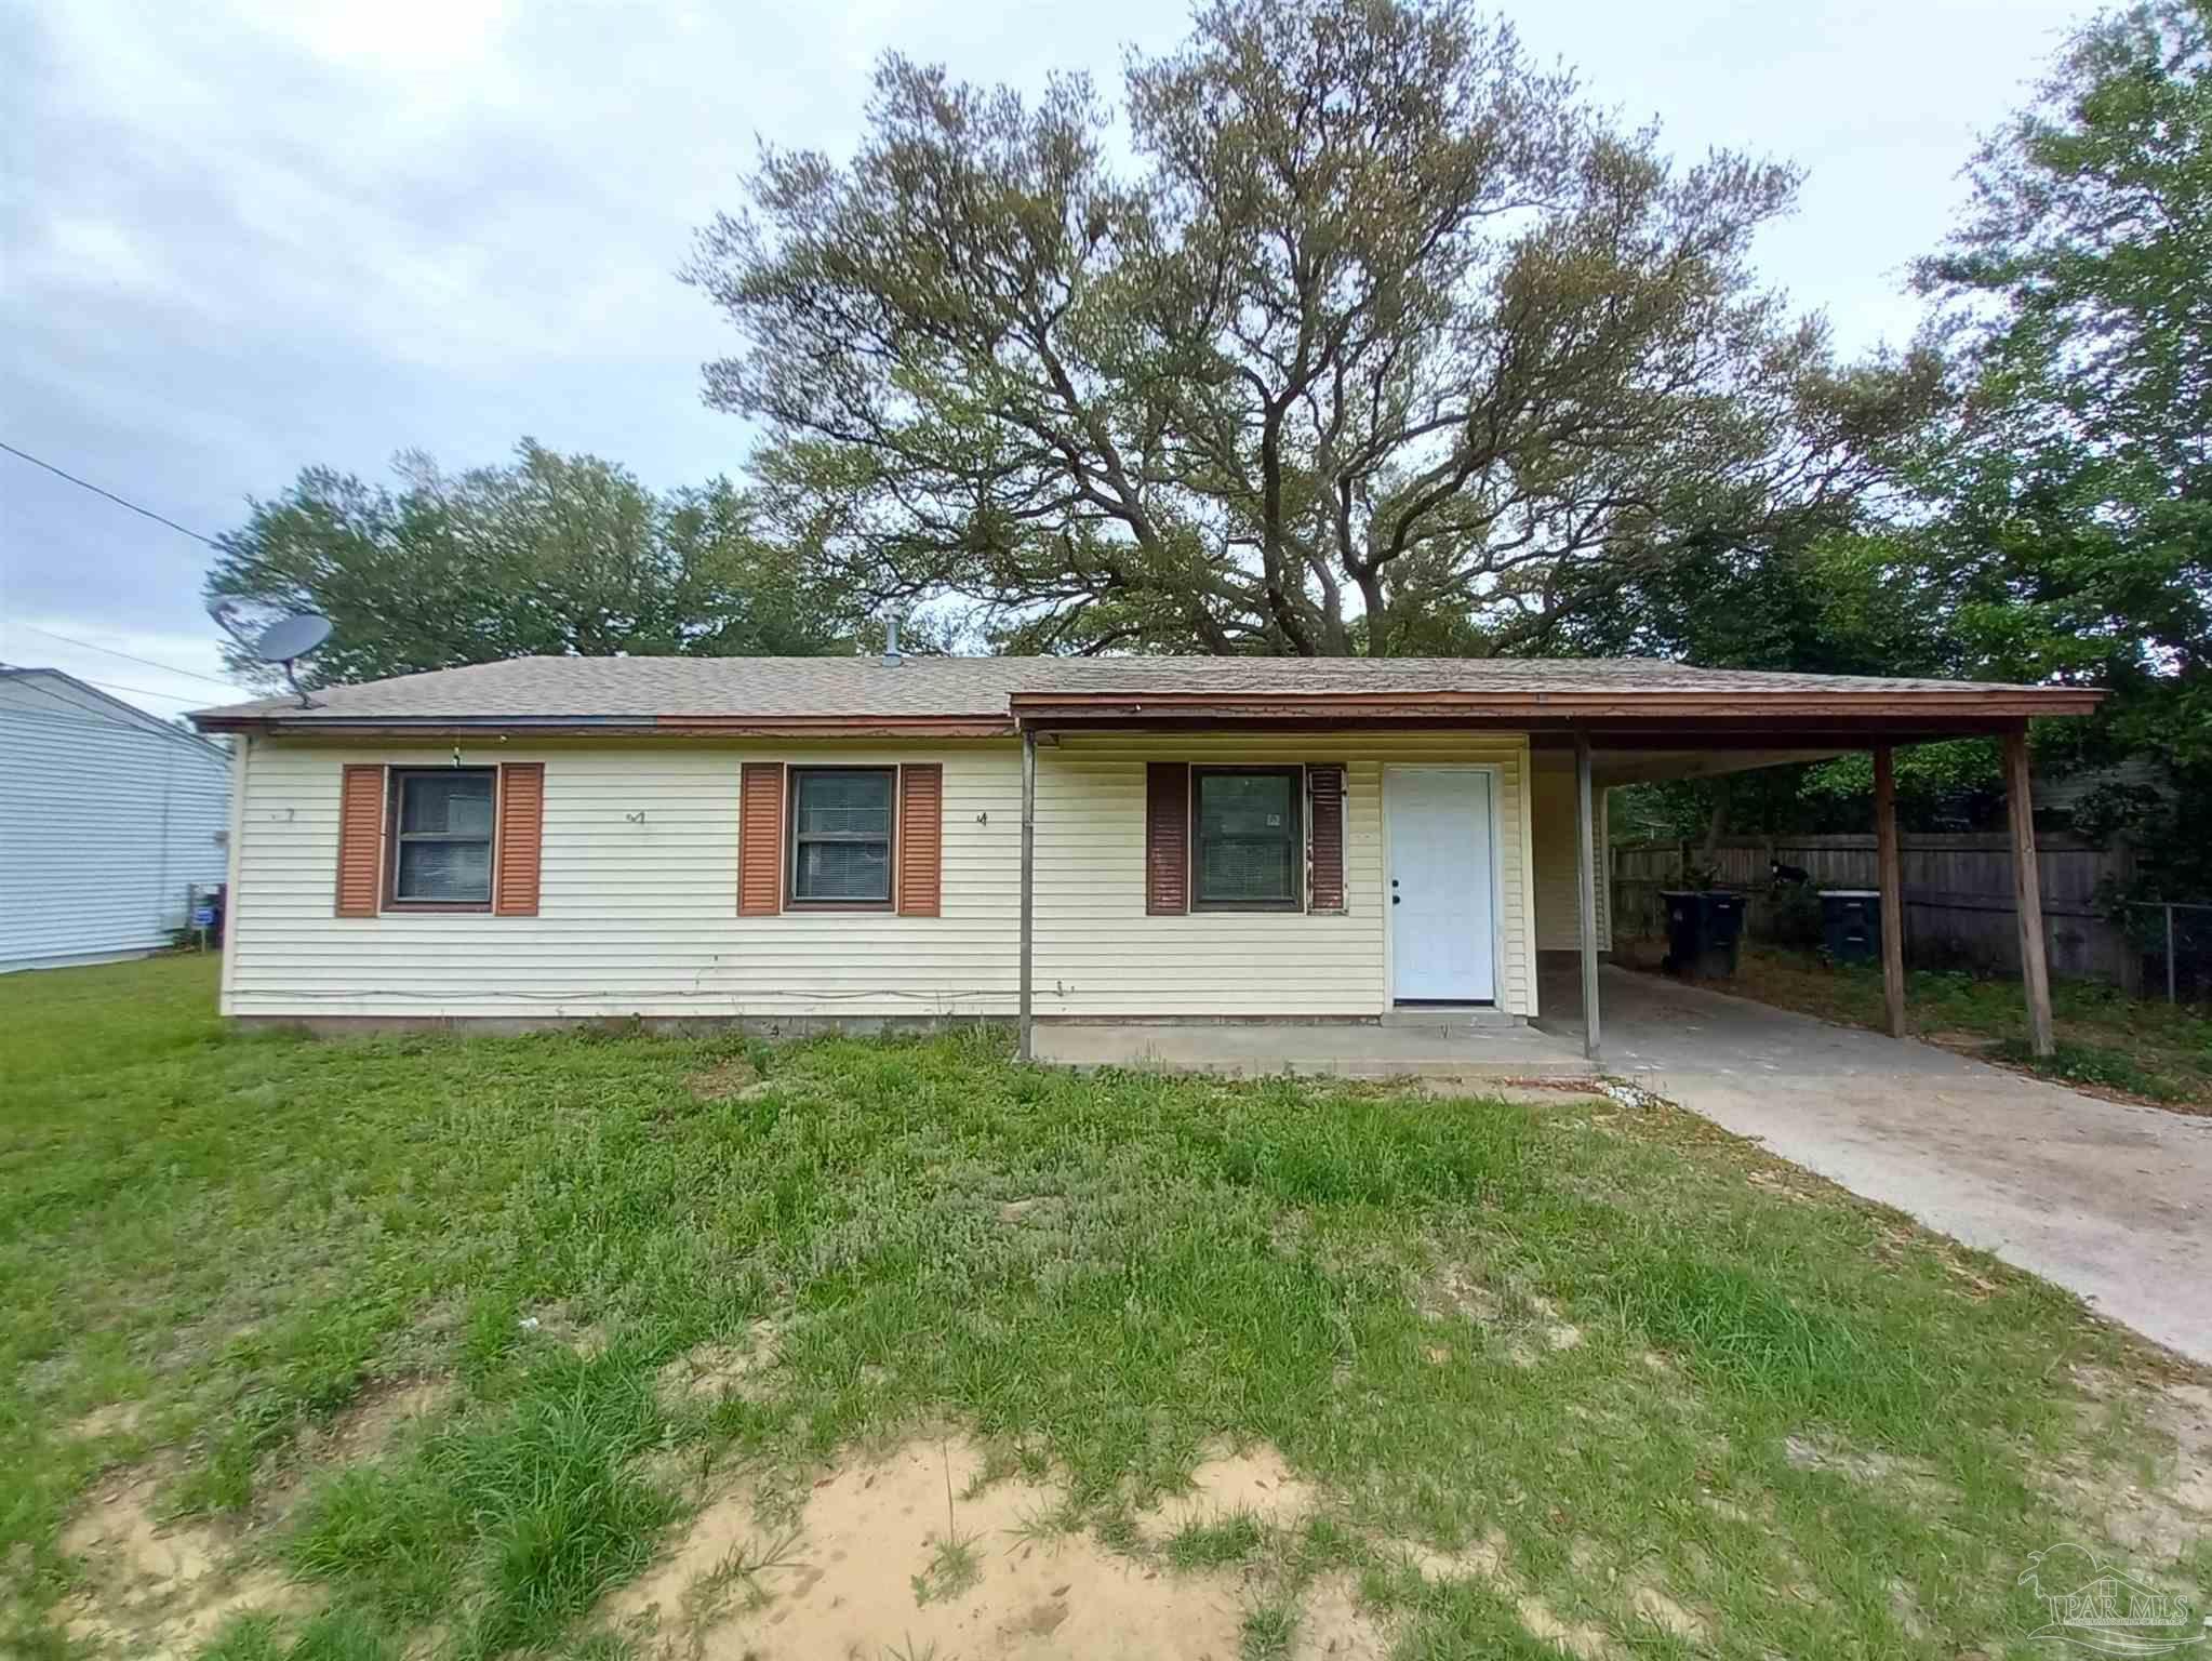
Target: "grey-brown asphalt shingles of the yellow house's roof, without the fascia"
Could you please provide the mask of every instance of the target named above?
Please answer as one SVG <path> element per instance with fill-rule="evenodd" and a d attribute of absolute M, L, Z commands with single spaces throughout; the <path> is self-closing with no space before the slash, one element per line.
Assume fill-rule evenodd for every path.
<path fill-rule="evenodd" d="M 1971 692 L 2031 690 L 1986 681 L 1703 670 L 1648 657 L 513 657 L 498 664 L 325 686 L 314 708 L 292 697 L 199 710 L 221 723 L 288 725 L 389 717 L 639 719 L 664 717 L 984 717 L 1018 692 Z"/>

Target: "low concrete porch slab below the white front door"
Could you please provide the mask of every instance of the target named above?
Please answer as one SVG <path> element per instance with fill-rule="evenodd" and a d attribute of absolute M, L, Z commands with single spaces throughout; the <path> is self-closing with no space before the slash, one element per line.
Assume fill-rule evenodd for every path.
<path fill-rule="evenodd" d="M 1336 1079 L 1593 1079 L 1579 1044 L 1533 1026 L 1473 1033 L 1360 1022 L 1037 1022 L 1053 1066 Z"/>

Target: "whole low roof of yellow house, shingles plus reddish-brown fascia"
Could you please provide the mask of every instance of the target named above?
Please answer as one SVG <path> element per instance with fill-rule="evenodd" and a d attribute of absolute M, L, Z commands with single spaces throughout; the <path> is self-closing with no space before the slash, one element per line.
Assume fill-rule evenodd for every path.
<path fill-rule="evenodd" d="M 210 732 L 1013 732 L 1197 719 L 2081 714 L 2097 692 L 1555 657 L 515 657 L 199 710 Z"/>

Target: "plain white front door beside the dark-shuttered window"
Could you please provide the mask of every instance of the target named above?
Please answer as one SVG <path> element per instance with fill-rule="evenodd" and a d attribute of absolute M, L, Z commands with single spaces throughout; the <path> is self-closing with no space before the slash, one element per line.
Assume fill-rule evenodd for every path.
<path fill-rule="evenodd" d="M 1473 767 L 1387 767 L 1391 997 L 1498 997 L 1491 913 L 1491 776 Z"/>

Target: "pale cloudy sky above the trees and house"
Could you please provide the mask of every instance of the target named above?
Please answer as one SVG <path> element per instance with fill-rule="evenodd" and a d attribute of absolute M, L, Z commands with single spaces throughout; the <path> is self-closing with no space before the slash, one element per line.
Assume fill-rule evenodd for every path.
<path fill-rule="evenodd" d="M 1677 153 L 1812 177 L 1761 259 L 1845 349 L 1980 133 L 2088 0 L 1551 0 L 1509 9 Z M 666 487 L 737 471 L 699 405 L 726 325 L 677 283 L 759 139 L 847 153 L 880 51 L 1110 84 L 1181 0 L 0 0 L 0 442 L 215 535 L 305 464 L 529 433 Z M 0 661 L 173 714 L 223 701 L 208 549 L 0 453 Z M 73 646 L 58 635 L 88 641 Z M 117 657 L 124 652 L 126 657 Z M 133 661 L 150 659 L 150 661 Z M 155 668 L 170 666 L 170 668 Z"/>

